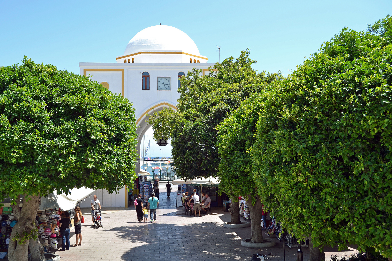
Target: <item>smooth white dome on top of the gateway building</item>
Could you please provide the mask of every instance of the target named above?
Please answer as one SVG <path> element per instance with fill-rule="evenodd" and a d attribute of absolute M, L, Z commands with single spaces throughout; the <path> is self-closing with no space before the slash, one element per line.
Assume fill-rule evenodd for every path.
<path fill-rule="evenodd" d="M 194 41 L 185 32 L 169 25 L 154 25 L 138 32 L 124 55 L 142 51 L 181 51 L 192 55 L 200 55 Z"/>

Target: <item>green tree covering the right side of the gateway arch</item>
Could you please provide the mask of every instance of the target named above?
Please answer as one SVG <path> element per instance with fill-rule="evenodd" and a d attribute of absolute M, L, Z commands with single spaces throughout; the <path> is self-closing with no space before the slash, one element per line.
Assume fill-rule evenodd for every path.
<path fill-rule="evenodd" d="M 235 60 L 230 57 L 222 63 L 216 63 L 214 68 L 210 68 L 211 74 L 208 76 L 200 76 L 200 70 L 188 72 L 186 77 L 180 79 L 178 110 L 162 110 L 150 117 L 149 124 L 154 129 L 154 139 L 171 137 L 176 174 L 182 179 L 217 175 L 220 164 L 218 125 L 249 95 L 259 93 L 280 76 L 276 73 L 256 72 L 251 67 L 255 62 L 249 58 L 249 50 L 245 50 Z M 254 187 L 254 184 L 249 186 Z M 232 222 L 240 223 L 236 204 L 238 194 L 220 187 L 221 192 L 227 193 L 232 200 Z M 254 202 L 256 209 L 260 208 L 261 215 L 260 199 L 250 201 Z M 256 209 L 253 213 L 258 215 Z M 261 220 L 260 215 L 255 220 Z M 252 240 L 260 241 L 254 238 L 256 234 L 260 238 L 261 232 L 258 234 L 256 230 L 252 230 L 252 234 L 255 235 Z"/>

